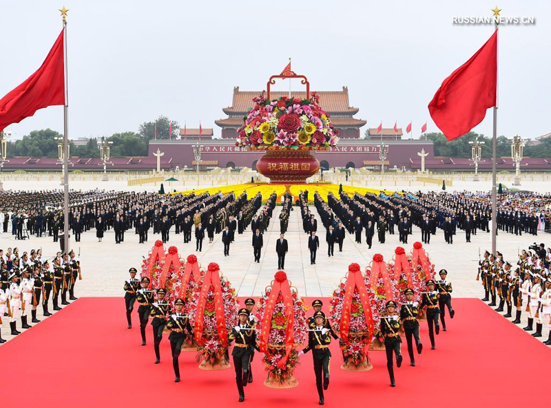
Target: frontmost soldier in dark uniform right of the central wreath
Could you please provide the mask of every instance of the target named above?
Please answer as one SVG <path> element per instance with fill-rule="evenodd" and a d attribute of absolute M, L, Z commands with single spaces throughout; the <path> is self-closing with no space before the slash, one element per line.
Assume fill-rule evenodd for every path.
<path fill-rule="evenodd" d="M 329 387 L 329 362 L 331 361 L 331 330 L 324 327 L 326 322 L 325 314 L 321 310 L 315 312 L 313 323 L 309 323 L 308 345 L 299 353 L 305 354 L 312 350 L 314 363 L 315 386 L 318 388 L 320 405 L 324 405 L 324 389 Z"/>

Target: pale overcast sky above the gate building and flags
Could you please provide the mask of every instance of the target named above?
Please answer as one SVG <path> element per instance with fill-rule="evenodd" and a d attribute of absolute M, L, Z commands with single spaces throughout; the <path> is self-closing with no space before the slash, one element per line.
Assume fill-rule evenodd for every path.
<path fill-rule="evenodd" d="M 295 3 L 299 4 L 295 5 Z M 0 97 L 43 62 L 61 30 L 63 0 L 0 2 Z M 220 128 L 234 86 L 261 91 L 289 56 L 313 90 L 349 87 L 355 116 L 369 127 L 428 121 L 441 81 L 492 34 L 491 25 L 453 25 L 454 16 L 491 16 L 495 0 L 456 1 L 75 1 L 70 9 L 70 138 L 136 131 L 160 114 L 183 127 Z M 534 138 L 551 131 L 551 3 L 499 0 L 502 26 L 498 133 Z M 298 89 L 300 84 L 293 84 Z M 283 85 L 282 89 L 287 89 Z M 15 138 L 63 130 L 63 108 L 11 125 Z M 362 128 L 362 133 L 366 127 Z M 475 131 L 491 135 L 492 115 Z"/>

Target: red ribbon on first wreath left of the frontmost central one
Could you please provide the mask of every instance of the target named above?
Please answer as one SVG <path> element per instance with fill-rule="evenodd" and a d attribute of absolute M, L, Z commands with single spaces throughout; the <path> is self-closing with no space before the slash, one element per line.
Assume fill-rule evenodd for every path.
<path fill-rule="evenodd" d="M 228 334 L 226 329 L 226 318 L 224 312 L 224 301 L 222 300 L 222 284 L 220 283 L 220 266 L 211 262 L 205 277 L 203 277 L 201 292 L 197 302 L 197 310 L 195 314 L 195 339 L 197 343 L 202 341 L 203 316 L 205 315 L 205 305 L 207 304 L 207 295 L 212 286 L 214 292 L 214 314 L 216 316 L 216 328 L 218 332 L 218 340 L 222 344 L 227 343 Z"/>

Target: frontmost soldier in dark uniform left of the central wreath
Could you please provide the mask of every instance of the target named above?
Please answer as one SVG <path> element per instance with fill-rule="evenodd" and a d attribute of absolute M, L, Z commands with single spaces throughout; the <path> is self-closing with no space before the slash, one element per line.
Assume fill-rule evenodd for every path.
<path fill-rule="evenodd" d="M 247 387 L 249 379 L 249 364 L 251 363 L 251 350 L 256 348 L 256 332 L 249 322 L 249 311 L 245 308 L 239 310 L 239 321 L 228 336 L 228 345 L 232 341 L 231 356 L 233 367 L 236 369 L 236 384 L 239 392 L 239 402 L 245 400 L 244 387 Z"/>

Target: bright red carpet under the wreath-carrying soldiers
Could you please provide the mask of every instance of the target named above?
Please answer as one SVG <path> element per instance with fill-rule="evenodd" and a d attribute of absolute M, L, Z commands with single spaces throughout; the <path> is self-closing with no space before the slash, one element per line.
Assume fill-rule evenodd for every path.
<path fill-rule="evenodd" d="M 333 341 L 326 406 L 357 407 L 359 401 L 374 407 L 541 403 L 545 393 L 533 390 L 543 391 L 548 385 L 550 347 L 477 299 L 454 299 L 453 303 L 457 315 L 448 322 L 448 332 L 437 336 L 434 351 L 430 350 L 426 322 L 422 322 L 424 351 L 416 358 L 417 367 L 409 366 L 404 340 L 404 365 L 395 369 L 394 389 L 389 386 L 384 352 L 371 353 L 375 367 L 370 372 L 344 372 Z M 2 403 L 9 407 L 23 401 L 25 405 L 25 398 L 30 398 L 41 408 L 318 405 L 311 353 L 302 357 L 295 372 L 300 385 L 287 390 L 262 385 L 266 376 L 257 353 L 255 381 L 245 388 L 246 400 L 240 404 L 233 367 L 205 372 L 198 369 L 195 353 L 180 354 L 183 380 L 174 383 L 167 336 L 161 344 L 161 363 L 155 365 L 151 330 L 148 326 L 149 344 L 142 347 L 136 324 L 132 330 L 126 328 L 123 299 L 79 299 L 0 346 L 4 385 L 19 389 L 6 389 Z M 26 380 L 30 382 L 25 386 Z"/>

